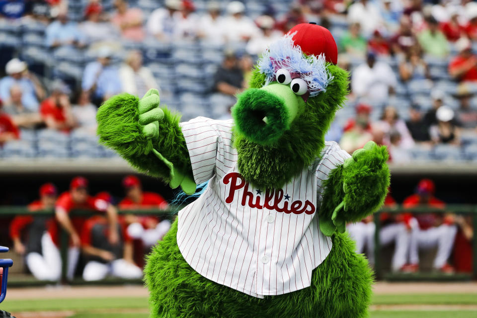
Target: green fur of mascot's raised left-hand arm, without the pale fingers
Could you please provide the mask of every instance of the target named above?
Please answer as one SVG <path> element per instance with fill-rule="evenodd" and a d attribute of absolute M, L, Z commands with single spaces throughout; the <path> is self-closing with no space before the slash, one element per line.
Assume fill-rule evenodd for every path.
<path fill-rule="evenodd" d="M 184 173 L 191 174 L 189 153 L 179 127 L 180 116 L 162 108 L 164 118 L 159 122 L 159 138 L 148 139 L 139 123 L 138 102 L 138 97 L 127 93 L 105 101 L 96 114 L 99 141 L 137 170 L 167 182 L 169 169 L 154 155 L 153 148 Z"/>

